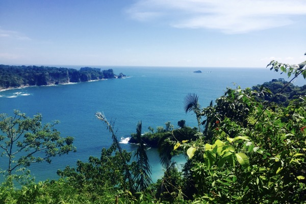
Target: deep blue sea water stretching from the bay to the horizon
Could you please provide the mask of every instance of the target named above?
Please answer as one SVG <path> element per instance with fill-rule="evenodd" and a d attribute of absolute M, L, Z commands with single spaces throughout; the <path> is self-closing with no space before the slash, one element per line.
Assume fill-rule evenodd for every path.
<path fill-rule="evenodd" d="M 177 126 L 177 121 L 182 119 L 189 126 L 196 126 L 195 115 L 186 114 L 183 109 L 184 97 L 188 93 L 196 93 L 200 105 L 206 107 L 211 100 L 221 96 L 226 87 L 246 88 L 272 79 L 287 80 L 286 75 L 268 68 L 97 68 L 112 68 L 116 74 L 123 72 L 130 77 L 0 92 L 0 113 L 13 115 L 14 109 L 28 116 L 41 113 L 44 123 L 60 120 L 57 130 L 61 136 L 75 138 L 76 153 L 53 158 L 51 164 L 30 166 L 36 181 L 58 179 L 58 169 L 64 169 L 67 165 L 74 167 L 78 160 L 86 162 L 89 156 L 100 157 L 101 148 L 110 146 L 111 135 L 104 123 L 95 118 L 95 112 L 104 112 L 109 121 L 115 121 L 117 137 L 126 138 L 135 133 L 136 123 L 140 120 L 143 133 L 148 131 L 148 126 L 156 130 L 157 126 L 165 126 L 167 121 Z M 202 73 L 193 73 L 195 70 Z M 305 80 L 300 77 L 294 84 L 302 86 Z M 129 151 L 135 150 L 133 144 L 121 145 Z M 156 181 L 163 174 L 157 150 L 149 149 L 148 156 L 152 179 Z M 0 168 L 7 168 L 6 161 L 5 157 L 0 157 Z M 182 164 L 184 159 L 180 157 L 177 161 Z"/>

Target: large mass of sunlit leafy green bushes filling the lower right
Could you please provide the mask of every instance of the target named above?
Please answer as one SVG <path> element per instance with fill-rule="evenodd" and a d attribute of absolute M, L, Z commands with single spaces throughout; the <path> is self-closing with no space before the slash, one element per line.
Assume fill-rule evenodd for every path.
<path fill-rule="evenodd" d="M 305 72 L 302 68 L 288 73 L 297 76 Z M 195 202 L 306 199 L 306 98 L 292 100 L 287 107 L 264 107 L 256 97 L 262 91 L 227 89 L 216 105 L 203 109 L 203 137 L 173 148 L 187 149 L 190 160 L 184 171 L 193 178 Z"/>

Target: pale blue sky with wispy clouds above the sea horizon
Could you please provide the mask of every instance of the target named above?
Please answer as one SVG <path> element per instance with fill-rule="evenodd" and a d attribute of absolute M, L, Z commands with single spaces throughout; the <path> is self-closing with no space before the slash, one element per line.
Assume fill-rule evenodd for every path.
<path fill-rule="evenodd" d="M 266 67 L 305 52 L 305 0 L 0 0 L 0 64 Z"/>

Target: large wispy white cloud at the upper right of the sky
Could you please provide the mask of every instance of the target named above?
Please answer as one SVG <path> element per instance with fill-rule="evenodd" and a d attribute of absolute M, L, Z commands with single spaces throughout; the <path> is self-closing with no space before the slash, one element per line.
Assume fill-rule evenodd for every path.
<path fill-rule="evenodd" d="M 304 0 L 139 0 L 127 13 L 141 21 L 159 19 L 175 28 L 248 33 L 294 23 L 306 15 Z"/>

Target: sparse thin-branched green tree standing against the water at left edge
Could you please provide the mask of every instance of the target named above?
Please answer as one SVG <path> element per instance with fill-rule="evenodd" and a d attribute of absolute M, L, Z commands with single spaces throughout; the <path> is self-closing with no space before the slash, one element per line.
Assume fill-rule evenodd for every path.
<path fill-rule="evenodd" d="M 41 114 L 30 118 L 18 110 L 13 117 L 0 114 L 0 119 L 1 156 L 8 158 L 9 175 L 17 167 L 43 161 L 50 163 L 52 157 L 76 151 L 72 145 L 74 138 L 60 137 L 60 132 L 54 128 L 58 121 L 43 125 Z"/>

